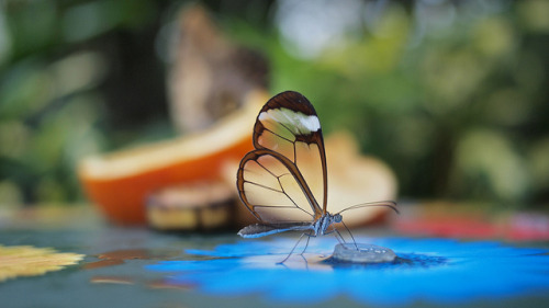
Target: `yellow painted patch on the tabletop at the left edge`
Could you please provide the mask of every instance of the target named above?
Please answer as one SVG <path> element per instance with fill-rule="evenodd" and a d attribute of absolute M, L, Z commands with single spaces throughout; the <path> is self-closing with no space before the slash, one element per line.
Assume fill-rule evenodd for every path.
<path fill-rule="evenodd" d="M 52 248 L 0 244 L 0 282 L 22 276 L 37 276 L 77 264 L 83 254 L 59 253 Z"/>

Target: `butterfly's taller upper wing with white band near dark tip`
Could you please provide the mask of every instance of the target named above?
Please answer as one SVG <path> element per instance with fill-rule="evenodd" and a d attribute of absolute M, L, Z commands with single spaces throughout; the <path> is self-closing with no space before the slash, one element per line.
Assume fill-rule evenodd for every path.
<path fill-rule="evenodd" d="M 314 217 L 326 213 L 326 155 L 321 124 L 313 105 L 298 92 L 270 99 L 254 127 L 254 146 L 287 158 L 299 170 L 314 201 Z M 321 204 L 318 204 L 321 202 Z"/>

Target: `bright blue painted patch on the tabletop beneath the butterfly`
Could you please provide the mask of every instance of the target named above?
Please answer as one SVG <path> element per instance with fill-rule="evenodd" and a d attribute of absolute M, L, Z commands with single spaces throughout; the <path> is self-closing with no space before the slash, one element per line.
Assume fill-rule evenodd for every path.
<path fill-rule="evenodd" d="M 222 244 L 213 251 L 187 250 L 202 260 L 164 261 L 147 269 L 166 272 L 171 284 L 191 284 L 206 294 L 261 294 L 269 300 L 292 304 L 314 304 L 339 295 L 372 305 L 462 304 L 549 290 L 548 250 L 451 239 L 357 241 L 390 248 L 399 260 L 370 265 L 329 262 L 325 259 L 335 242 L 320 238 L 311 241 L 304 258 L 294 254 L 280 265 L 277 262 L 295 242 L 277 238 Z"/>

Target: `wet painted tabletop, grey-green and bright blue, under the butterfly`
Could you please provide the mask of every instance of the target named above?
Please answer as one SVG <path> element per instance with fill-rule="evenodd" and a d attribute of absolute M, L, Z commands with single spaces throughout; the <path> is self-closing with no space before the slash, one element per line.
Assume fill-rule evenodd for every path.
<path fill-rule="evenodd" d="M 1 229 L 1 226 L 0 226 Z M 386 237 L 380 264 L 330 259 L 332 237 L 312 239 L 283 265 L 298 235 L 243 240 L 233 233 L 161 233 L 105 224 L 3 228 L 4 246 L 86 254 L 80 264 L 0 284 L 2 307 L 547 307 L 547 242 Z M 299 251 L 299 250 L 296 250 Z M 30 294 L 32 290 L 32 294 Z M 32 295 L 32 296 L 31 296 Z"/>

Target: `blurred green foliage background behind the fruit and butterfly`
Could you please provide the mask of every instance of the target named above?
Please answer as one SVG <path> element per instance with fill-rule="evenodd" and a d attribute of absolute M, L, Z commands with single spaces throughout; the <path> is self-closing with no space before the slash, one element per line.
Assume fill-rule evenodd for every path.
<path fill-rule="evenodd" d="M 270 93 L 303 93 L 391 166 L 401 198 L 549 206 L 549 1 L 197 2 L 264 55 Z M 181 134 L 186 5 L 0 2 L 0 206 L 80 202 L 83 156 Z"/>

